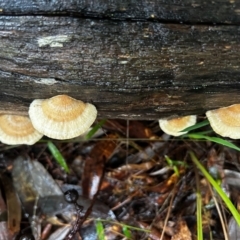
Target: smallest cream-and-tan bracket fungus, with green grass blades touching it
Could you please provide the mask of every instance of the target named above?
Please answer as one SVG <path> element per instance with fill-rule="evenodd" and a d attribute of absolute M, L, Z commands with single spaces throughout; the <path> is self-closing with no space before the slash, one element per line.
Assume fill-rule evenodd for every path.
<path fill-rule="evenodd" d="M 180 136 L 187 132 L 181 132 L 187 127 L 191 127 L 197 121 L 196 115 L 190 115 L 185 117 L 174 118 L 170 120 L 160 119 L 160 128 L 167 134 L 172 136 Z"/>

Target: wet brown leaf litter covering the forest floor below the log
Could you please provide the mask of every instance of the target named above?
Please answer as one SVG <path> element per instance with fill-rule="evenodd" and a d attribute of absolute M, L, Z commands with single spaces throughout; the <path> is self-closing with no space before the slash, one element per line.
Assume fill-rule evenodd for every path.
<path fill-rule="evenodd" d="M 211 128 L 208 125 L 202 130 Z M 202 239 L 239 239 L 239 227 L 231 213 L 191 157 L 194 155 L 201 162 L 238 208 L 239 151 L 189 136 L 171 137 L 160 130 L 158 121 L 107 120 L 94 136 L 86 138 L 89 135 L 69 141 L 43 138 L 33 146 L 0 145 L 0 239 L 14 235 L 7 232 L 9 228 L 1 227 L 4 203 L 9 217 L 14 215 L 11 208 L 16 215 L 21 211 L 11 206 L 5 177 L 13 179 L 11 191 L 19 195 L 23 209 L 20 220 L 14 219 L 12 224 L 16 239 L 33 239 L 33 221 L 35 227 L 42 228 L 41 239 L 51 239 L 56 231 L 60 235 L 55 239 L 200 239 L 199 217 Z M 49 150 L 49 141 L 60 156 Z M 240 146 L 238 141 L 232 143 Z M 66 160 L 68 173 L 55 160 L 61 161 L 61 156 Z M 17 168 L 14 161 L 19 157 L 25 161 L 23 167 L 12 170 Z M 32 166 L 35 161 L 46 172 Z M 36 176 L 41 176 L 41 180 Z M 53 185 L 49 184 L 49 177 L 54 179 Z M 51 198 L 54 194 L 49 193 L 55 187 L 63 192 L 76 189 L 80 197 L 68 208 L 67 202 L 61 202 L 62 196 Z M 74 219 L 69 223 L 60 217 L 61 211 L 73 211 Z M 60 224 L 56 225 L 61 228 L 53 224 L 53 216 L 58 217 Z M 59 230 L 66 225 L 68 233 Z M 8 237 L 3 238 L 4 234 Z M 36 238 L 37 233 L 33 234 Z"/>

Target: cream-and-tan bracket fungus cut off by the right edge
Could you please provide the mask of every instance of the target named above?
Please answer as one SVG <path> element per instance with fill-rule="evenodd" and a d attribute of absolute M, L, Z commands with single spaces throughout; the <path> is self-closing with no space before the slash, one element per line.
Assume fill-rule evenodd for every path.
<path fill-rule="evenodd" d="M 240 104 L 207 111 L 206 115 L 217 134 L 240 139 Z"/>

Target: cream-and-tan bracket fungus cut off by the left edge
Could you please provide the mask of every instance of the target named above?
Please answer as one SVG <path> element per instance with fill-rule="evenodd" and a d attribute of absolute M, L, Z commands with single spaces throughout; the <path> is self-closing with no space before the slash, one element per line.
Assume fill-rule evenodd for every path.
<path fill-rule="evenodd" d="M 0 141 L 9 144 L 32 145 L 42 138 L 42 134 L 33 128 L 28 117 L 0 115 Z"/>

